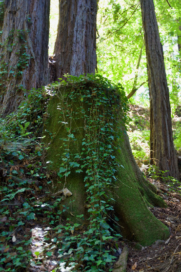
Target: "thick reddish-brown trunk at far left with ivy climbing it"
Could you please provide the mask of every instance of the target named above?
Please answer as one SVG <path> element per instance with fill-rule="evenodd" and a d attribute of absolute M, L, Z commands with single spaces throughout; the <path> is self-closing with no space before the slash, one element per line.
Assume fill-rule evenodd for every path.
<path fill-rule="evenodd" d="M 50 0 L 5 0 L 0 37 L 0 113 L 17 109 L 25 90 L 48 79 Z"/>

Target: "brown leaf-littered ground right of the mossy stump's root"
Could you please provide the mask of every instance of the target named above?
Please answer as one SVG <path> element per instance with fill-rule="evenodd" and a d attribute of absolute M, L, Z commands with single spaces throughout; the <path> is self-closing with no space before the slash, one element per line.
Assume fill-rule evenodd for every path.
<path fill-rule="evenodd" d="M 127 272 L 181 272 L 181 190 L 170 191 L 167 185 L 150 180 L 158 188 L 167 208 L 152 208 L 153 214 L 170 229 L 167 241 L 158 240 L 150 247 L 129 248 Z"/>

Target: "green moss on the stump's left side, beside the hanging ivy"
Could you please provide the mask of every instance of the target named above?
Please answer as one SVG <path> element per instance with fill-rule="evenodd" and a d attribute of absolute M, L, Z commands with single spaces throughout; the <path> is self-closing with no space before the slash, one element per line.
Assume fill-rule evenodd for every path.
<path fill-rule="evenodd" d="M 62 89 L 63 91 L 63 89 Z M 56 171 L 59 173 L 60 165 L 62 164 L 63 153 L 65 153 L 65 148 L 63 146 L 62 139 L 66 138 L 67 131 L 66 127 L 62 125 L 64 122 L 61 120 L 60 108 L 62 107 L 62 101 L 59 97 L 60 90 L 57 95 L 51 97 L 48 105 L 48 114 L 49 118 L 45 124 L 45 139 L 44 142 L 49 149 L 46 154 L 46 163 L 51 171 Z M 80 119 L 78 119 L 80 120 Z M 80 123 L 80 121 L 79 121 Z M 82 124 L 81 124 L 82 126 Z M 74 132 L 75 137 L 80 133 L 80 124 L 77 131 Z M 71 141 L 69 148 L 71 150 L 77 150 L 77 147 L 81 145 L 81 139 L 77 138 L 77 141 Z M 48 163 L 49 162 L 49 163 Z M 54 189 L 56 191 L 68 188 L 72 192 L 72 196 L 64 199 L 64 202 L 67 205 L 67 213 L 70 217 L 80 214 L 84 214 L 86 217 L 86 209 L 84 208 L 85 201 L 85 187 L 82 180 L 84 179 L 84 175 L 81 173 L 76 173 L 72 171 L 70 175 L 66 178 L 59 178 L 54 180 Z M 74 201 L 72 203 L 72 201 Z"/>

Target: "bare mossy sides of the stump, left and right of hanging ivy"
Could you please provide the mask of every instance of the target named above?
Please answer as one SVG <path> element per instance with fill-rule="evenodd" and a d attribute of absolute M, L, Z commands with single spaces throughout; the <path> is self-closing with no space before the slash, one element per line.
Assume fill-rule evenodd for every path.
<path fill-rule="evenodd" d="M 71 131 L 74 131 L 75 140 L 70 142 L 68 147 L 70 152 L 75 152 L 75 150 L 79 154 L 82 152 L 82 141 L 85 138 L 85 133 L 87 133 L 84 130 L 84 119 L 82 113 L 79 112 L 79 106 L 76 103 L 70 106 L 70 101 L 67 98 L 67 93 L 70 95 L 70 92 L 68 86 L 64 89 L 59 87 L 57 95 L 52 96 L 48 106 L 49 118 L 45 126 L 45 142 L 49 143 L 50 148 L 47 150 L 46 160 L 52 161 L 48 164 L 49 169 L 58 172 L 62 168 L 60 167 L 62 165 L 61 155 L 67 154 L 67 149 L 63 146 L 62 140 L 67 137 L 67 128 L 62 126 L 62 123 L 66 122 L 62 120 L 60 111 L 66 113 L 64 108 L 68 105 L 69 110 L 76 112 L 76 118 L 71 119 Z M 64 98 L 66 98 L 66 101 Z M 87 104 L 85 104 L 85 107 L 87 107 Z M 110 116 L 107 118 L 110 118 Z M 105 188 L 105 190 L 107 190 L 109 198 L 115 200 L 113 201 L 114 211 L 119 218 L 123 236 L 140 243 L 142 246 L 149 246 L 159 239 L 167 239 L 170 233 L 168 228 L 152 214 L 148 207 L 166 207 L 166 204 L 156 194 L 156 188 L 143 177 L 134 160 L 126 131 L 121 125 L 121 117 L 119 118 L 120 123 L 118 120 L 114 127 L 115 130 L 120 129 L 122 135 L 122 139 L 114 143 L 118 147 L 115 151 L 115 158 L 119 164 L 117 182 L 113 186 Z M 79 159 L 76 159 L 75 162 L 79 163 Z M 58 173 L 58 175 L 60 174 Z M 85 175 L 85 171 L 78 173 L 73 170 L 63 181 L 62 178 L 59 181 L 59 190 L 66 187 L 73 193 L 70 197 L 70 203 L 66 200 L 66 206 L 74 222 L 77 215 L 83 214 L 86 219 L 88 214 L 85 208 L 87 204 L 87 193 L 84 187 Z"/>

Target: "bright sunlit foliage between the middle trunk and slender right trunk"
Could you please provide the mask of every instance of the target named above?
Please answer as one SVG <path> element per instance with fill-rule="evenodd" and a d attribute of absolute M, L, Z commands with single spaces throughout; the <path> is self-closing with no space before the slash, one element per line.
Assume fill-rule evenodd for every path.
<path fill-rule="evenodd" d="M 114 83 L 132 90 L 138 57 L 143 44 L 141 10 L 138 1 L 101 0 L 98 10 L 98 70 Z M 147 79 L 142 52 L 138 85 Z"/>

